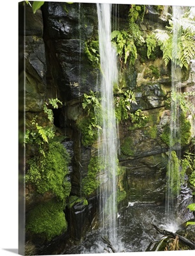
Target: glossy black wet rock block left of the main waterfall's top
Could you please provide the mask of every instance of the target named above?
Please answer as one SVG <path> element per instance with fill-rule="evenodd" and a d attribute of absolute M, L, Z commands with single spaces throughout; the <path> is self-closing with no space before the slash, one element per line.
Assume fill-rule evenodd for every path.
<path fill-rule="evenodd" d="M 85 54 L 85 42 L 97 33 L 94 4 L 45 3 L 44 40 L 48 74 L 62 100 L 71 100 L 96 90 L 99 70 L 92 68 Z"/>

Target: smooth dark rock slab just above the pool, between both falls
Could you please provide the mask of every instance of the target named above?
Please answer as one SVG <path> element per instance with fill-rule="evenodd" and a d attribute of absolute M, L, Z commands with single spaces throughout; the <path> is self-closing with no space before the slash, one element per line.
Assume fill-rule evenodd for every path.
<path fill-rule="evenodd" d="M 123 161 L 122 166 L 126 168 L 124 188 L 128 201 L 162 203 L 166 184 L 166 164 L 165 154 Z"/>

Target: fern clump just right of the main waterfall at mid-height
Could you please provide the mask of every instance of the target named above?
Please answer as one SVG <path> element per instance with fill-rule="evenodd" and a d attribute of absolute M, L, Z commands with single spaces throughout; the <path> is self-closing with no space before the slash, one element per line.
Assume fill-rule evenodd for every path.
<path fill-rule="evenodd" d="M 131 90 L 120 92 L 114 97 L 115 115 L 119 122 L 129 118 L 131 104 L 137 104 L 134 93 Z"/>

